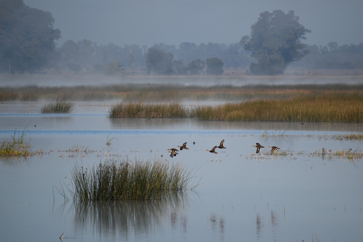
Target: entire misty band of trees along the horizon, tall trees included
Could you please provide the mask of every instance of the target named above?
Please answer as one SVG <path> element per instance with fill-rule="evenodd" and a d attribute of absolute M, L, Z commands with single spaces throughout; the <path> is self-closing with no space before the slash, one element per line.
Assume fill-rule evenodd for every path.
<path fill-rule="evenodd" d="M 117 46 L 113 43 L 97 45 L 91 40 L 83 39 L 78 42 L 68 40 L 57 47 L 55 40 L 61 37 L 61 31 L 53 29 L 54 18 L 50 12 L 30 8 L 23 0 L 6 0 L 0 1 L 0 13 L 0 73 L 101 74 L 107 67 L 110 75 L 123 75 L 125 72 L 220 75 L 226 68 L 270 75 L 282 73 L 287 64 L 308 70 L 363 69 L 363 43 L 338 46 L 337 42 L 329 42 L 326 46 L 307 46 L 310 53 L 306 54 L 306 45 L 299 42 L 304 38 L 298 36 L 294 40 L 297 41 L 297 46 L 284 47 L 285 42 L 281 38 L 286 36 L 285 33 L 290 33 L 291 28 L 295 28 L 294 24 L 289 28 L 284 27 L 284 31 L 272 29 L 271 31 L 275 31 L 272 32 L 274 38 L 271 33 L 265 34 L 262 39 L 264 41 L 261 41 L 259 34 L 257 37 L 252 34 L 250 37 L 242 37 L 239 43 L 231 44 L 196 45 L 182 42 L 178 46 L 164 43 L 151 47 L 134 44 Z M 281 10 L 261 14 L 266 21 L 271 20 L 270 16 L 276 17 L 283 26 L 288 21 L 282 21 L 285 18 L 281 20 L 281 16 L 290 17 L 298 24 L 298 17 L 294 16 L 293 11 L 287 14 Z M 261 21 L 262 24 L 253 25 L 253 32 L 259 31 L 261 35 L 266 33 L 266 23 L 262 21 L 265 18 L 258 19 L 257 23 Z M 302 36 L 310 31 L 301 27 Z M 252 54 L 257 59 L 252 58 Z"/>

